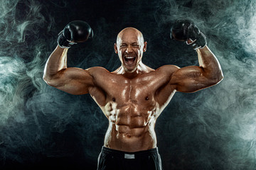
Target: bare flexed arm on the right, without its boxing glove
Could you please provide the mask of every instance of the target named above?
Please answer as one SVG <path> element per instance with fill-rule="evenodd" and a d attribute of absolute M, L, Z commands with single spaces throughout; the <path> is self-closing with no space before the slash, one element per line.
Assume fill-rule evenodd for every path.
<path fill-rule="evenodd" d="M 218 84 L 223 79 L 220 64 L 213 52 L 205 46 L 197 50 L 199 67 L 188 66 L 177 69 L 171 76 L 170 84 L 177 91 L 195 92 Z"/>

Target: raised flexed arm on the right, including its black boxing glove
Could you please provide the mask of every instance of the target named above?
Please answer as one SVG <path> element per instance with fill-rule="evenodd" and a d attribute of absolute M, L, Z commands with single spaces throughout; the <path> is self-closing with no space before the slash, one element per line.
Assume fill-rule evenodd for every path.
<path fill-rule="evenodd" d="M 171 35 L 174 39 L 184 41 L 191 45 L 198 53 L 199 66 L 188 66 L 171 75 L 170 84 L 177 91 L 195 92 L 206 87 L 218 84 L 223 79 L 220 64 L 206 45 L 206 37 L 189 21 L 176 24 Z"/>

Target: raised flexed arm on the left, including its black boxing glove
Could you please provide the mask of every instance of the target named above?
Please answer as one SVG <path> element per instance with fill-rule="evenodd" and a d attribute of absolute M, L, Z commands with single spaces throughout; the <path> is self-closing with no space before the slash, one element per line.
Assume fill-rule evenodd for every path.
<path fill-rule="evenodd" d="M 93 86 L 90 69 L 67 67 L 68 48 L 75 42 L 83 42 L 92 36 L 87 23 L 69 23 L 58 37 L 58 46 L 51 53 L 44 69 L 43 79 L 50 86 L 69 94 L 87 94 Z"/>

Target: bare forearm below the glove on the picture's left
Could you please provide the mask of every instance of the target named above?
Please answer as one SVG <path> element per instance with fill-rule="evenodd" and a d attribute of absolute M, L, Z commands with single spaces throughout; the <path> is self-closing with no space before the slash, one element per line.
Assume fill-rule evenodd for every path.
<path fill-rule="evenodd" d="M 67 68 L 67 52 L 68 48 L 61 48 L 57 46 L 55 50 L 50 54 L 43 73 L 44 80 L 49 81 L 61 69 Z"/>

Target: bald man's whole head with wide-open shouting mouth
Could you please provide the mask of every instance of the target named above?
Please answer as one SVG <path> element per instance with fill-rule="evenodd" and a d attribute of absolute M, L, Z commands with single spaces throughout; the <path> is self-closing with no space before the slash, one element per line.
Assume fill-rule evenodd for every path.
<path fill-rule="evenodd" d="M 134 72 L 146 51 L 146 42 L 136 30 L 127 29 L 119 34 L 114 51 L 118 54 L 126 72 Z"/>

